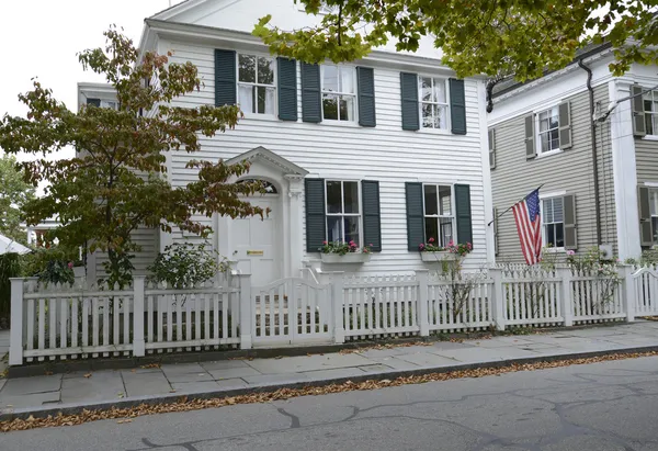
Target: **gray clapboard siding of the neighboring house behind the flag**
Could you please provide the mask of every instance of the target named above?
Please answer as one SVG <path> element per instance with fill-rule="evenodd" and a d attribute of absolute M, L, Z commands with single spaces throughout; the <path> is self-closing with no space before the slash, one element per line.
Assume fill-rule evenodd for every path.
<path fill-rule="evenodd" d="M 545 185 L 540 193 L 565 190 L 567 194 L 575 194 L 578 250 L 586 251 L 597 243 L 588 92 L 568 100 L 571 102 L 574 145 L 561 154 L 526 159 L 524 121 L 529 112 L 492 126 L 496 129 L 496 169 L 491 171 L 494 206 L 502 212 L 542 183 Z M 594 89 L 597 101 L 608 104 L 608 84 Z M 601 127 L 597 129 L 597 140 L 602 241 L 614 244 L 616 221 L 610 125 L 605 123 Z M 523 260 L 511 212 L 499 219 L 498 244 L 498 260 Z"/>

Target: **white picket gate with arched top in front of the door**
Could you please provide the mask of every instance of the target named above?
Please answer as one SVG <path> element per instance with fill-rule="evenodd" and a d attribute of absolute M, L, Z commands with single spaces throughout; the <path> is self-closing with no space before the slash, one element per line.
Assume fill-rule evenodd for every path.
<path fill-rule="evenodd" d="M 298 278 L 251 287 L 253 345 L 331 342 L 331 285 Z"/>

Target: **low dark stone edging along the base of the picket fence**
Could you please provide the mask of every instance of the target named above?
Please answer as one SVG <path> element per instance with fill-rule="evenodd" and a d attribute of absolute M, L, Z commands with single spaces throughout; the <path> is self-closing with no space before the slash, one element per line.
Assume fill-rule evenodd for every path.
<path fill-rule="evenodd" d="M 634 324 L 620 324 L 620 323 L 601 323 L 601 324 L 588 324 L 569 327 L 547 327 L 538 330 L 542 334 L 549 334 L 552 331 L 564 332 L 566 330 L 580 330 L 591 329 L 595 327 L 620 327 L 629 326 Z M 27 363 L 21 367 L 9 367 L 7 369 L 7 379 L 14 377 L 30 377 L 35 375 L 44 374 L 64 374 L 72 372 L 91 372 L 101 370 L 129 370 L 133 368 L 139 368 L 141 365 L 152 363 L 194 363 L 194 362 L 213 362 L 219 360 L 230 359 L 272 359 L 275 357 L 297 357 L 307 354 L 320 354 L 340 352 L 342 350 L 351 349 L 363 349 L 373 346 L 383 345 L 401 345 L 409 342 L 435 342 L 442 341 L 445 337 L 457 338 L 457 339 L 477 339 L 485 335 L 491 335 L 489 331 L 474 331 L 469 334 L 444 334 L 444 335 L 432 335 L 429 337 L 404 337 L 404 338 L 385 338 L 378 340 L 367 341 L 352 341 L 342 345 L 317 345 L 317 346 L 305 346 L 305 347 L 287 347 L 287 348 L 260 348 L 260 349 L 225 349 L 214 351 L 197 351 L 197 352 L 180 352 L 180 353 L 156 353 L 146 357 L 116 357 L 116 358 L 101 358 L 101 359 L 69 359 L 69 360 L 53 360 L 36 363 Z M 497 334 L 500 336 L 515 336 L 513 334 Z M 496 335 L 495 335 L 496 336 Z M 522 337 L 523 335 L 518 335 Z"/>

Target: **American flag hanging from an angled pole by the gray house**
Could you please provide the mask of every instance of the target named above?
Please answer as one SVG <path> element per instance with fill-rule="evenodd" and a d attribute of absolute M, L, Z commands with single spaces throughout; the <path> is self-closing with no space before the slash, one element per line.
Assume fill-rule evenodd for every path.
<path fill-rule="evenodd" d="M 521 250 L 527 264 L 536 264 L 542 256 L 542 219 L 540 217 L 540 190 L 534 190 L 512 206 Z"/>

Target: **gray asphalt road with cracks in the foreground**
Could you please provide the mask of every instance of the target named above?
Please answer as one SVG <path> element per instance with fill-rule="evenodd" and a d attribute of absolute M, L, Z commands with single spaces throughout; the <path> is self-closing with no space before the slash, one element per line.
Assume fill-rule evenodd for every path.
<path fill-rule="evenodd" d="M 658 450 L 658 358 L 0 435 L 0 450 Z"/>

